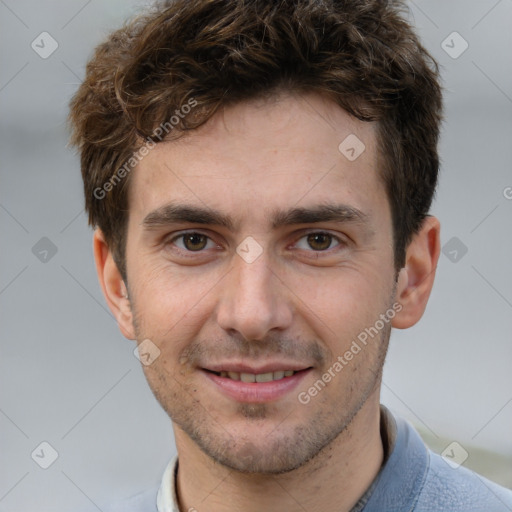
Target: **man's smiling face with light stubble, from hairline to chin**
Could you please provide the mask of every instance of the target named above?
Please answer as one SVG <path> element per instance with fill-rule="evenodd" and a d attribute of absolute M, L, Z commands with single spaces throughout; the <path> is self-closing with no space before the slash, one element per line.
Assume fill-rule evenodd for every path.
<path fill-rule="evenodd" d="M 133 171 L 133 329 L 178 445 L 290 471 L 375 394 L 395 291 L 377 168 L 375 126 L 308 95 L 226 108 Z"/>

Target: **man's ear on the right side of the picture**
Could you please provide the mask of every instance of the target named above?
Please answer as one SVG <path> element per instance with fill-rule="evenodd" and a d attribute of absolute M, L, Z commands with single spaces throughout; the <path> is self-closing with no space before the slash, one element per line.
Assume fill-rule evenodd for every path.
<path fill-rule="evenodd" d="M 425 312 L 441 250 L 440 232 L 439 220 L 429 216 L 407 247 L 405 267 L 400 270 L 396 289 L 396 300 L 402 309 L 391 322 L 397 329 L 412 327 Z"/>

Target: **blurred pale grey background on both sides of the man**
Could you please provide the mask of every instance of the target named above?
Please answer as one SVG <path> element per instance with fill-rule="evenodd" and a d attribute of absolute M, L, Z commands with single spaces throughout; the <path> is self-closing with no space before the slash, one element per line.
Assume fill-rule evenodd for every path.
<path fill-rule="evenodd" d="M 423 320 L 392 334 L 383 403 L 512 487 L 512 0 L 409 4 L 446 91 L 444 248 Z M 2 511 L 99 510 L 156 485 L 174 453 L 101 295 L 66 147 L 87 58 L 143 6 L 0 0 Z"/>

